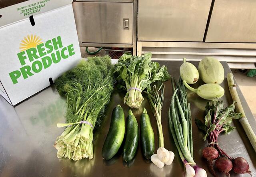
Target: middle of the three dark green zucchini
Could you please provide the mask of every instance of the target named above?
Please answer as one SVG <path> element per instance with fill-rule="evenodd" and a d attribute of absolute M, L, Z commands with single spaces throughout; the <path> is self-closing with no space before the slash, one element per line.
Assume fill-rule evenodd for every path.
<path fill-rule="evenodd" d="M 136 155 L 139 141 L 139 126 L 132 110 L 126 119 L 126 140 L 124 143 L 123 160 L 131 161 Z"/>

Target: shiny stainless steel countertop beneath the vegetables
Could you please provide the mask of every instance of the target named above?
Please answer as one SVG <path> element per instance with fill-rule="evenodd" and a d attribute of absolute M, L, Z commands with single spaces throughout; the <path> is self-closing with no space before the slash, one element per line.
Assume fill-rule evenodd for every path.
<path fill-rule="evenodd" d="M 182 62 L 160 61 L 161 65 L 168 66 L 169 73 L 178 79 L 179 67 Z M 192 62 L 198 66 L 198 62 Z M 226 62 L 222 63 L 225 70 L 225 76 L 230 69 Z M 195 85 L 202 84 L 199 80 Z M 228 83 L 226 78 L 221 84 L 225 89 L 225 95 L 222 97 L 224 104 L 232 103 Z M 256 132 L 256 121 L 244 99 L 239 88 L 244 111 L 248 121 Z M 254 93 L 252 93 L 254 94 Z M 124 108 L 125 115 L 128 115 L 128 106 L 124 105 L 123 91 L 114 91 L 112 99 L 105 112 L 105 121 L 102 129 L 94 133 L 94 158 L 92 160 L 82 159 L 72 161 L 68 159 L 58 159 L 57 150 L 53 147 L 56 137 L 58 137 L 64 128 L 57 128 L 56 123 L 63 123 L 65 109 L 65 99 L 51 87 L 44 89 L 30 99 L 12 107 L 4 98 L 0 97 L 0 176 L 1 177 L 82 177 L 82 176 L 104 176 L 104 177 L 137 177 L 137 176 L 156 176 L 156 177 L 182 177 L 184 176 L 184 167 L 178 156 L 176 147 L 168 132 L 167 111 L 170 105 L 172 89 L 170 81 L 165 85 L 165 99 L 162 109 L 162 125 L 164 131 L 164 146 L 170 151 L 174 151 L 176 157 L 172 165 L 166 165 L 158 169 L 150 161 L 142 157 L 140 145 L 135 160 L 131 163 L 123 163 L 122 157 L 116 155 L 113 159 L 105 161 L 102 159 L 101 151 L 104 139 L 109 129 L 111 113 L 117 104 Z M 194 93 L 188 93 L 189 101 L 192 106 L 192 127 L 194 141 L 194 160 L 200 166 L 206 169 L 208 177 L 212 175 L 204 159 L 202 159 L 201 150 L 207 145 L 203 140 L 202 133 L 195 125 L 194 118 L 202 119 L 204 116 L 204 105 L 206 100 L 199 98 Z M 146 98 L 146 97 L 144 97 Z M 156 120 L 154 119 L 147 99 L 144 100 L 140 109 L 133 109 L 138 123 L 142 107 L 146 107 L 150 115 L 152 127 L 155 133 L 155 145 L 158 148 L 158 136 Z M 231 157 L 242 156 L 247 159 L 252 176 L 256 176 L 256 153 L 254 152 L 248 138 L 246 137 L 242 126 L 235 120 L 236 129 L 229 135 L 220 135 L 219 144 Z M 239 176 L 231 173 L 231 176 Z M 250 177 L 246 174 L 243 177 Z"/>

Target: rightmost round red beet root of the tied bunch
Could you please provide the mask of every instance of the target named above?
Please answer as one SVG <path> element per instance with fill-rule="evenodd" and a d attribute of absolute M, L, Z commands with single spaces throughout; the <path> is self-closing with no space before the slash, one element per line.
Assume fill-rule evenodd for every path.
<path fill-rule="evenodd" d="M 249 170 L 248 162 L 243 157 L 236 157 L 236 159 L 233 160 L 233 171 L 238 174 L 252 173 Z"/>

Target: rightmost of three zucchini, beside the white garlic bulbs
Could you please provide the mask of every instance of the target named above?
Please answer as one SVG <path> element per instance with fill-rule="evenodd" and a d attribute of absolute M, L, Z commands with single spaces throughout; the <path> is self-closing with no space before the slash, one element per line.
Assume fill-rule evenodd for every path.
<path fill-rule="evenodd" d="M 151 127 L 150 118 L 145 108 L 140 117 L 140 138 L 142 154 L 146 159 L 150 159 L 155 151 L 155 137 Z"/>

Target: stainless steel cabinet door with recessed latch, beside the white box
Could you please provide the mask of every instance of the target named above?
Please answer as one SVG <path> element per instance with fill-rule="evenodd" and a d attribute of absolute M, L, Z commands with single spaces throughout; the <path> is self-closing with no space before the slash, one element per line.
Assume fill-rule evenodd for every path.
<path fill-rule="evenodd" d="M 73 3 L 79 42 L 132 44 L 132 2 Z"/>

